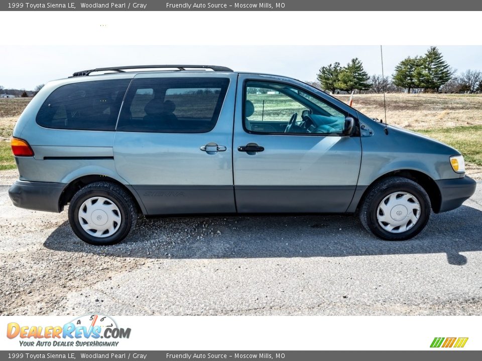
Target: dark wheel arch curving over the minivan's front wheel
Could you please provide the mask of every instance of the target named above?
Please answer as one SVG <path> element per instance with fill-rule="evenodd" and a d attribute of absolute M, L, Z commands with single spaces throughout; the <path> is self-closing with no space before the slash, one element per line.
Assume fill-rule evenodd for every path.
<path fill-rule="evenodd" d="M 365 198 L 369 194 L 369 192 L 378 184 L 381 182 L 381 180 L 386 179 L 391 176 L 400 176 L 404 178 L 408 178 L 410 180 L 413 180 L 413 182 L 419 184 L 425 192 L 427 192 L 427 195 L 430 199 L 430 204 L 432 207 L 432 210 L 434 213 L 439 213 L 440 212 L 440 206 L 441 206 L 441 200 L 442 196 L 440 193 L 440 189 L 438 188 L 437 184 L 435 183 L 435 180 L 430 177 L 430 175 L 420 171 L 420 170 L 415 170 L 415 169 L 397 169 L 397 170 L 392 170 L 390 172 L 387 172 L 378 178 L 376 178 L 363 192 L 363 194 L 359 197 L 359 199 L 356 202 L 356 208 L 355 212 L 358 211 L 359 207 L 363 204 Z M 351 208 L 351 207 L 350 207 Z"/>

